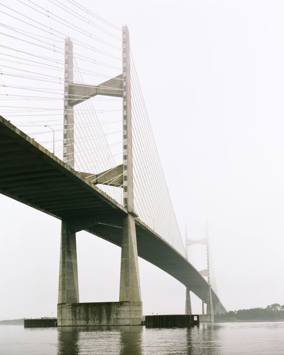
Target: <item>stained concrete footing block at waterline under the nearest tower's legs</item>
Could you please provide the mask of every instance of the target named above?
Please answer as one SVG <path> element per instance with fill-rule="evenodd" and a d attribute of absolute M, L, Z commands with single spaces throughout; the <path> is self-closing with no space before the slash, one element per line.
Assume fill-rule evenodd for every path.
<path fill-rule="evenodd" d="M 141 325 L 142 302 L 61 303 L 58 326 Z"/>

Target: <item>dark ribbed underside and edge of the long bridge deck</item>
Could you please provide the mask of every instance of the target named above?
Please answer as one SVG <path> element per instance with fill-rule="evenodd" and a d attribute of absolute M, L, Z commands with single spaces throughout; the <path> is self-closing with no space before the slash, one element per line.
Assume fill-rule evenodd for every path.
<path fill-rule="evenodd" d="M 94 217 L 84 229 L 121 246 L 127 210 L 1 116 L 0 193 L 59 219 Z M 198 270 L 139 218 L 135 223 L 138 255 L 206 302 L 208 283 Z"/>

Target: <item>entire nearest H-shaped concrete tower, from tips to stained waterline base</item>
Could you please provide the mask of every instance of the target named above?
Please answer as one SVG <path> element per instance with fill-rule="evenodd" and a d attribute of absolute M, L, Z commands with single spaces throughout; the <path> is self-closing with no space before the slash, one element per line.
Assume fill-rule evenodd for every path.
<path fill-rule="evenodd" d="M 85 318 L 89 317 L 90 312 L 93 312 L 94 315 L 111 312 L 111 320 L 107 321 L 108 325 L 141 325 L 142 300 L 135 227 L 135 218 L 138 215 L 134 210 L 133 193 L 130 40 L 127 26 L 122 28 L 122 74 L 96 86 L 73 83 L 73 45 L 70 38 L 65 40 L 63 161 L 72 169 L 75 166 L 73 107 L 96 95 L 122 97 L 123 105 L 123 164 L 97 175 L 80 172 L 81 176 L 91 183 L 104 184 L 113 178 L 112 186 L 123 188 L 123 204 L 127 209 L 127 214 L 123 220 L 121 233 L 119 302 L 111 302 L 111 305 L 79 303 L 76 232 L 85 229 L 86 226 L 90 226 L 90 224 L 94 223 L 94 220 L 98 222 L 99 216 L 77 216 L 72 220 L 63 219 L 60 249 L 58 325 L 87 325 Z M 118 175 L 122 177 L 116 178 Z M 109 223 L 111 218 L 112 216 L 108 216 Z M 104 308 L 101 309 L 102 307 L 110 307 L 111 311 L 107 311 Z M 79 314 L 81 314 L 80 324 L 75 324 Z M 102 325 L 99 323 L 88 324 Z"/>

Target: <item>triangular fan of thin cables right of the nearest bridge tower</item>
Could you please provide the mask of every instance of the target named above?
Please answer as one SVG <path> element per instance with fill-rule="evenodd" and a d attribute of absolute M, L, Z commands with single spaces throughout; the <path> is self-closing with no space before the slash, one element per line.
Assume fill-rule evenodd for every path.
<path fill-rule="evenodd" d="M 131 96 L 135 207 L 143 222 L 185 256 L 132 55 Z"/>

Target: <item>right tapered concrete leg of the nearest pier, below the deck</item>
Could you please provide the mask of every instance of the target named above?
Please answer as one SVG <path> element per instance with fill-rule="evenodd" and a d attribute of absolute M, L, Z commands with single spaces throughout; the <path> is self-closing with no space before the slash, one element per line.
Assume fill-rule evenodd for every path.
<path fill-rule="evenodd" d="M 123 220 L 119 301 L 141 302 L 135 218 L 130 214 Z"/>

